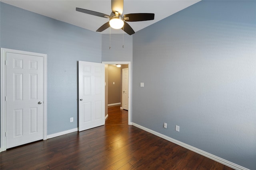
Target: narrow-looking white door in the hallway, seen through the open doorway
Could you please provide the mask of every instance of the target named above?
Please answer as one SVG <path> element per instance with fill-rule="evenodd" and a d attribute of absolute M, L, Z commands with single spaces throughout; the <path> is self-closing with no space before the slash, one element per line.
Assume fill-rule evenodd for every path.
<path fill-rule="evenodd" d="M 129 70 L 128 68 L 122 69 L 122 107 L 128 110 L 128 94 L 129 94 Z"/>

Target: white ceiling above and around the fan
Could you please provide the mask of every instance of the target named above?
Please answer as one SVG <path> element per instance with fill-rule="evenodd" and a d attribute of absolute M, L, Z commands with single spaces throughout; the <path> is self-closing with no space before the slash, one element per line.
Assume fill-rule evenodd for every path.
<path fill-rule="evenodd" d="M 56 20 L 64 21 L 78 27 L 96 31 L 109 19 L 77 12 L 76 7 L 110 15 L 111 0 L 0 0 L 31 12 Z M 151 21 L 127 22 L 134 31 L 139 31 L 160 21 L 200 0 L 124 0 L 123 14 L 154 13 Z M 109 33 L 110 28 L 102 31 Z M 111 33 L 123 33 L 122 29 L 111 29 Z"/>

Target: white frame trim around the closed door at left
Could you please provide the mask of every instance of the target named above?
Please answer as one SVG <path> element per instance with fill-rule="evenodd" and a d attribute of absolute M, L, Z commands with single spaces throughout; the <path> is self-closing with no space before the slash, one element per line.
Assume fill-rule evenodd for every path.
<path fill-rule="evenodd" d="M 33 53 L 28 51 L 20 51 L 14 49 L 1 48 L 0 55 L 0 75 L 1 75 L 1 145 L 0 152 L 6 150 L 6 53 L 18 53 L 24 55 L 34 55 L 43 57 L 43 140 L 47 139 L 47 55 L 41 53 Z"/>

